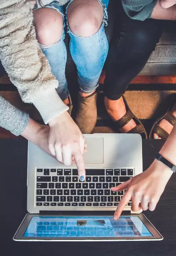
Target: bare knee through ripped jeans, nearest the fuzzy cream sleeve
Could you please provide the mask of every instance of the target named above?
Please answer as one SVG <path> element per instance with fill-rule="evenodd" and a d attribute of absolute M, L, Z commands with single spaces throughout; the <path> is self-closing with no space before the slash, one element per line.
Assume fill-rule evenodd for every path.
<path fill-rule="evenodd" d="M 62 37 L 63 18 L 57 10 L 52 8 L 34 10 L 34 25 L 40 44 L 52 45 Z"/>

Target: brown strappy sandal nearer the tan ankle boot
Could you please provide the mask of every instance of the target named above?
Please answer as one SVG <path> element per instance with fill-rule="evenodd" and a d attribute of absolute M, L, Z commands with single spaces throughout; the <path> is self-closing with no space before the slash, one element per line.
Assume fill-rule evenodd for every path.
<path fill-rule="evenodd" d="M 126 125 L 127 123 L 129 123 L 130 120 L 134 120 L 135 123 L 137 124 L 136 127 L 132 128 L 132 130 L 128 131 L 127 133 L 138 133 L 141 135 L 142 138 L 147 138 L 147 132 L 145 131 L 144 125 L 142 125 L 142 122 L 139 120 L 139 118 L 137 118 L 129 109 L 127 101 L 125 99 L 125 97 L 122 95 L 123 100 L 124 100 L 124 104 L 126 107 L 126 114 L 124 116 L 122 116 L 122 118 L 120 118 L 119 120 L 115 121 L 114 124 L 116 126 L 116 128 L 122 128 L 124 125 Z"/>

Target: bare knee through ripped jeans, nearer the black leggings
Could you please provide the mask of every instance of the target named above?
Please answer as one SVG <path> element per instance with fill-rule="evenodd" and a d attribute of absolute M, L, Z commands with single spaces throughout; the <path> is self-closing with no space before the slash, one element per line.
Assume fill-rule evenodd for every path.
<path fill-rule="evenodd" d="M 90 37 L 100 28 L 104 10 L 98 0 L 74 0 L 68 8 L 71 31 L 80 37 Z"/>

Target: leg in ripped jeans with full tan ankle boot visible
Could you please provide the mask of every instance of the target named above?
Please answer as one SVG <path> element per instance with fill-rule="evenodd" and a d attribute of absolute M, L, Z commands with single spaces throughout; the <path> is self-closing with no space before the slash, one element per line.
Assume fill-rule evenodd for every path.
<path fill-rule="evenodd" d="M 73 0 L 67 8 L 70 53 L 78 70 L 76 123 L 90 133 L 96 123 L 96 88 L 108 53 L 104 32 L 109 0 Z M 104 5 L 102 5 L 104 4 Z"/>

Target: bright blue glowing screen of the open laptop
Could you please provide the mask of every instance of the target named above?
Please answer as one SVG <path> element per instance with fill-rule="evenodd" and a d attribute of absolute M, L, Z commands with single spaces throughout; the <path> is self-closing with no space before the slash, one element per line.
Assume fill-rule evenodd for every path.
<path fill-rule="evenodd" d="M 152 237 L 137 216 L 111 217 L 32 217 L 24 237 Z"/>

